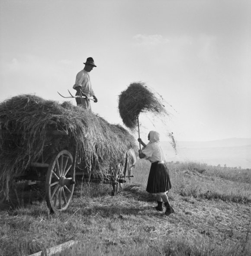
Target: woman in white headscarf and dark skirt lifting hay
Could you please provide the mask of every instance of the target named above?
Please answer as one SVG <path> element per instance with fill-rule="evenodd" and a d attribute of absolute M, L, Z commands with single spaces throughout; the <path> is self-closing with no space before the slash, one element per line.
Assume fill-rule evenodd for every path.
<path fill-rule="evenodd" d="M 158 206 L 155 207 L 158 211 L 163 211 L 163 201 L 166 207 L 165 215 L 174 213 L 174 208 L 171 207 L 167 192 L 171 189 L 171 181 L 166 164 L 164 163 L 165 156 L 159 144 L 160 135 L 157 131 L 150 131 L 148 134 L 149 143 L 146 145 L 141 138 L 138 142 L 144 147 L 138 151 L 139 158 L 148 157 L 151 162 L 151 169 L 148 177 L 146 191 L 156 194 Z"/>

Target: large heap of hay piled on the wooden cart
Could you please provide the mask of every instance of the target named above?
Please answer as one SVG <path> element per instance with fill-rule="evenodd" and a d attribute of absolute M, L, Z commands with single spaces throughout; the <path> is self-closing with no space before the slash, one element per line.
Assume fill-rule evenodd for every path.
<path fill-rule="evenodd" d="M 32 162 L 46 162 L 63 149 L 74 152 L 82 169 L 108 174 L 125 159 L 135 138 L 93 112 L 69 102 L 59 104 L 35 95 L 18 95 L 0 103 L 0 190 Z M 67 136 L 52 135 L 64 131 Z"/>

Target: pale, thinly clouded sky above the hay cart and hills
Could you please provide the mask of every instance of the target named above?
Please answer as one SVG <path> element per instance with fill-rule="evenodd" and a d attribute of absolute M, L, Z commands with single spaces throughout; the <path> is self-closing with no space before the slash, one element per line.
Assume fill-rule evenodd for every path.
<path fill-rule="evenodd" d="M 122 124 L 118 95 L 142 81 L 173 106 L 177 140 L 251 138 L 251 1 L 0 0 L 0 101 L 63 102 L 90 56 L 107 121 Z"/>

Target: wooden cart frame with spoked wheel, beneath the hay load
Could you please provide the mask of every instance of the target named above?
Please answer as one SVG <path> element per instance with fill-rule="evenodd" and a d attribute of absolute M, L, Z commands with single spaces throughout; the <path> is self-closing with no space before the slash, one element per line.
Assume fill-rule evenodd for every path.
<path fill-rule="evenodd" d="M 4 136 L 22 136 L 22 134 L 12 133 L 0 129 L 0 133 Z M 64 138 L 64 148 L 54 150 L 54 152 L 44 152 L 38 161 L 31 162 L 21 175 L 13 177 L 13 181 L 42 181 L 45 182 L 45 199 L 48 209 L 51 213 L 66 210 L 71 202 L 76 184 L 76 177 L 81 177 L 81 181 L 111 184 L 113 187 L 113 195 L 116 195 L 121 183 L 125 182 L 125 177 L 133 177 L 126 175 L 127 170 L 127 154 L 125 156 L 125 164 L 123 171 L 113 170 L 105 177 L 98 177 L 83 173 L 78 167 L 77 145 L 71 150 L 67 147 L 68 134 L 65 131 L 52 130 L 51 136 L 55 138 Z"/>

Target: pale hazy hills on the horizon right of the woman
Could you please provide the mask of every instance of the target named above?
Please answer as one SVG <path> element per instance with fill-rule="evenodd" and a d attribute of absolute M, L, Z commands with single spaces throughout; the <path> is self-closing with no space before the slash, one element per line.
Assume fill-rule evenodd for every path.
<path fill-rule="evenodd" d="M 161 141 L 167 161 L 196 161 L 209 165 L 251 168 L 251 138 L 216 141 L 177 141 L 177 154 L 169 141 Z"/>

